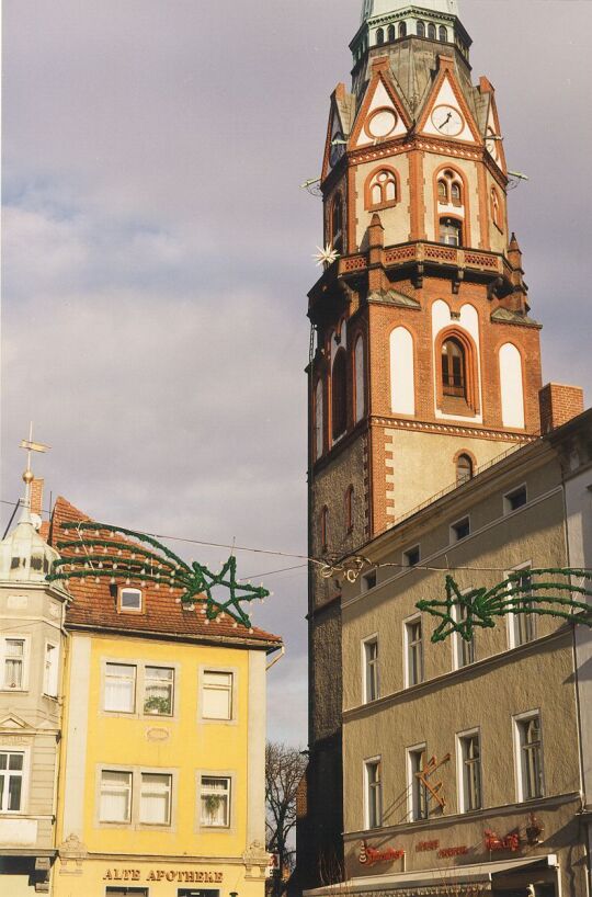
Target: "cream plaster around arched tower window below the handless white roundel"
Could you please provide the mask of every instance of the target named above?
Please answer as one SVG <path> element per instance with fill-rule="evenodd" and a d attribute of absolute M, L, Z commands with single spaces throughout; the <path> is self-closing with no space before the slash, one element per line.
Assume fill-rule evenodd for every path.
<path fill-rule="evenodd" d="M 360 247 L 368 229 L 374 212 L 365 208 L 365 184 L 373 171 L 382 166 L 389 166 L 399 173 L 399 201 L 391 208 L 382 208 L 378 212 L 380 222 L 385 228 L 385 246 L 407 242 L 409 239 L 409 159 L 403 154 L 390 156 L 386 159 L 374 159 L 372 162 L 364 162 L 355 171 L 356 192 L 356 229 L 355 241 Z"/>

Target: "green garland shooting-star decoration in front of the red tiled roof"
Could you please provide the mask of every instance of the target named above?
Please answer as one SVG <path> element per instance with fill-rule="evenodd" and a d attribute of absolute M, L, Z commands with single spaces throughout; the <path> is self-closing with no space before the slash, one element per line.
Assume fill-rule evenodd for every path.
<path fill-rule="evenodd" d="M 152 536 L 134 530 L 94 521 L 62 523 L 61 530 L 65 536 L 73 537 L 57 543 L 62 557 L 54 563 L 47 576 L 49 582 L 109 579 L 111 584 L 149 582 L 169 592 L 182 590 L 177 601 L 190 609 L 201 605 L 206 625 L 228 615 L 235 626 L 241 624 L 250 632 L 251 621 L 243 604 L 263 601 L 270 594 L 262 586 L 237 581 L 234 555 L 214 574 L 197 561 L 186 564 Z"/>

